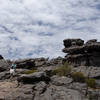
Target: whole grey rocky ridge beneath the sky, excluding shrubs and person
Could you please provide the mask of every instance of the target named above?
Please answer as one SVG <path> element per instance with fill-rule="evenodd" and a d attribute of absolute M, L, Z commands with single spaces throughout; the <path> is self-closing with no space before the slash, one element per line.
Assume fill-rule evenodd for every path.
<path fill-rule="evenodd" d="M 81 39 L 66 39 L 64 46 L 63 51 L 68 53 L 65 58 L 14 61 L 17 67 L 13 81 L 9 80 L 13 61 L 0 56 L 0 100 L 90 100 L 90 94 L 92 100 L 100 100 L 100 43 L 97 40 L 84 43 Z M 73 65 L 72 72 L 82 72 L 95 78 L 98 88 L 89 88 L 89 95 L 85 96 L 86 83 L 75 82 L 71 76 L 52 75 L 52 70 L 66 60 Z M 32 70 L 35 70 L 34 73 L 26 74 Z"/>

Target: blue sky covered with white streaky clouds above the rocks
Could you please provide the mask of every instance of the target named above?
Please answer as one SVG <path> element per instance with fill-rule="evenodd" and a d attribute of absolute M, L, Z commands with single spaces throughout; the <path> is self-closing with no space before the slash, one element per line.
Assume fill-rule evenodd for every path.
<path fill-rule="evenodd" d="M 100 0 L 0 0 L 0 54 L 57 57 L 65 38 L 100 41 Z"/>

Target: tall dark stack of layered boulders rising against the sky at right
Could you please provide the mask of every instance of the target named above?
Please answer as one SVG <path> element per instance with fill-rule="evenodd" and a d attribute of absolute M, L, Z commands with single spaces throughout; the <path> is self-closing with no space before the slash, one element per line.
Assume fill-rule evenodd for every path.
<path fill-rule="evenodd" d="M 64 53 L 67 60 L 75 66 L 100 66 L 100 42 L 92 39 L 84 43 L 81 39 L 65 39 Z"/>

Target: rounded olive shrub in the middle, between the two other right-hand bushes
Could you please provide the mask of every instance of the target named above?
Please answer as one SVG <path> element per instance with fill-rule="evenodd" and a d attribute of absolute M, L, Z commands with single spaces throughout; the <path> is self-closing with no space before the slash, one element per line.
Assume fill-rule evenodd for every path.
<path fill-rule="evenodd" d="M 85 82 L 85 76 L 82 72 L 74 72 L 71 76 L 75 82 Z"/>

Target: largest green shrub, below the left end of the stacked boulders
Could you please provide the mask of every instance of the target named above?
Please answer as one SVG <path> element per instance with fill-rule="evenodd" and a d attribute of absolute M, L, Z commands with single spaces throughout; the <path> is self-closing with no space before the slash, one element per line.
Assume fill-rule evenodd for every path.
<path fill-rule="evenodd" d="M 53 75 L 67 76 L 71 73 L 71 65 L 66 62 L 64 65 L 52 70 Z"/>

